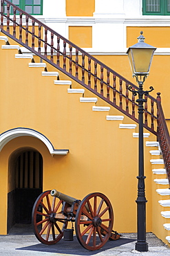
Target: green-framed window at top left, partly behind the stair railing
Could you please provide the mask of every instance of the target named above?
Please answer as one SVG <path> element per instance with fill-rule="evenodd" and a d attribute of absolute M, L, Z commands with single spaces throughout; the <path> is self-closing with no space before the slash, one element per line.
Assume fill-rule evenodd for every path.
<path fill-rule="evenodd" d="M 43 0 L 9 0 L 30 15 L 42 15 L 43 14 Z M 5 4 L 5 12 L 7 12 L 7 5 Z M 19 14 L 19 12 L 16 12 Z M 13 8 L 10 7 L 10 15 L 13 14 Z"/>

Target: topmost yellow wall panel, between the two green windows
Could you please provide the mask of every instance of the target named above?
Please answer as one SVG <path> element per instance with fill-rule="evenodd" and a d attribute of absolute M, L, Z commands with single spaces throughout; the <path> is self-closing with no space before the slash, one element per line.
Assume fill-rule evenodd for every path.
<path fill-rule="evenodd" d="M 67 16 L 93 16 L 95 0 L 66 0 Z"/>

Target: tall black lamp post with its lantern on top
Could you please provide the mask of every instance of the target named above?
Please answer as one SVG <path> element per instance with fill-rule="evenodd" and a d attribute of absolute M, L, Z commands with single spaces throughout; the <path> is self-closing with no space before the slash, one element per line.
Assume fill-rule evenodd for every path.
<path fill-rule="evenodd" d="M 138 43 L 134 46 L 129 47 L 127 50 L 129 62 L 131 64 L 131 70 L 133 77 L 136 77 L 139 89 L 137 91 L 132 90 L 129 86 L 129 91 L 134 95 L 138 94 L 138 119 L 139 119 L 139 153 L 138 153 L 138 197 L 137 203 L 137 214 L 138 214 L 138 238 L 136 242 L 136 250 L 140 252 L 148 251 L 148 244 L 146 241 L 146 197 L 145 197 L 145 176 L 144 176 L 144 156 L 143 156 L 143 95 L 148 95 L 149 92 L 153 91 L 153 87 L 149 87 L 149 91 L 143 91 L 143 83 L 147 75 L 149 75 L 149 69 L 151 66 L 151 60 L 156 48 L 145 44 L 145 37 L 140 32 L 138 37 Z"/>

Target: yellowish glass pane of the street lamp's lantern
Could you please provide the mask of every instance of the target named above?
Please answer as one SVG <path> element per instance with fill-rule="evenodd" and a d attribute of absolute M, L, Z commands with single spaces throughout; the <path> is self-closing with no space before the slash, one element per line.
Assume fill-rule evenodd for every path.
<path fill-rule="evenodd" d="M 134 73 L 149 73 L 153 49 L 133 48 Z"/>

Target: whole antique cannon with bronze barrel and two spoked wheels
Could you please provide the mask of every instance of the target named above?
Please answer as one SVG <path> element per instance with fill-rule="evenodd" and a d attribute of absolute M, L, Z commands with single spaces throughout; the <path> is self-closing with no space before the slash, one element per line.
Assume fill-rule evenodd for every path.
<path fill-rule="evenodd" d="M 110 240 L 120 238 L 112 230 L 113 209 L 107 196 L 95 192 L 81 201 L 56 190 L 40 194 L 32 209 L 32 224 L 36 238 L 43 244 L 56 244 L 63 237 L 73 240 L 73 223 L 76 237 L 87 250 L 98 250 Z M 67 228 L 71 223 L 71 227 Z"/>

